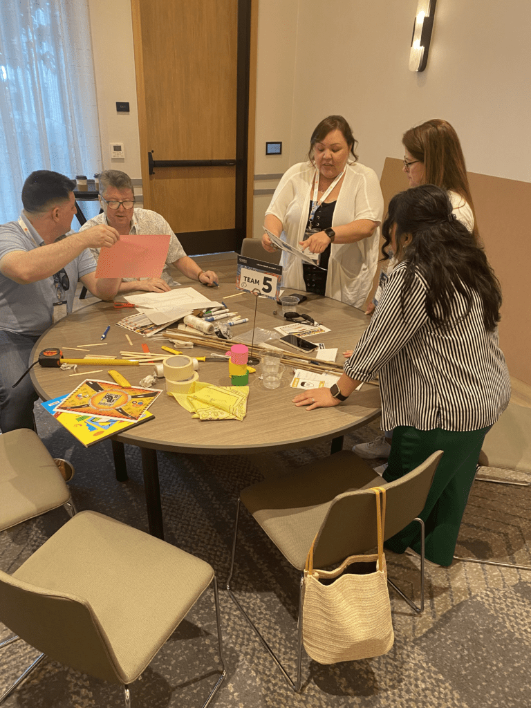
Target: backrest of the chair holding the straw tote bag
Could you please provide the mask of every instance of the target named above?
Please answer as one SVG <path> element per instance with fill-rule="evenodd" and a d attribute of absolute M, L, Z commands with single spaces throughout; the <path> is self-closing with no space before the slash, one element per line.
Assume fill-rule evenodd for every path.
<path fill-rule="evenodd" d="M 442 451 L 408 474 L 381 486 L 386 491 L 384 540 L 407 526 L 423 510 Z M 314 548 L 314 566 L 322 568 L 361 554 L 377 545 L 376 495 L 369 489 L 338 494 L 321 524 Z"/>

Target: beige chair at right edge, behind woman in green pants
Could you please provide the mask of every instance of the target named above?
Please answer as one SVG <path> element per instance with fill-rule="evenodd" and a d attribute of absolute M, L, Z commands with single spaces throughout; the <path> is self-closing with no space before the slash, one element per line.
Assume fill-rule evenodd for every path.
<path fill-rule="evenodd" d="M 516 472 L 531 472 L 531 409 L 517 404 L 509 404 L 501 418 L 486 434 L 479 463 L 481 467 L 513 469 Z M 493 477 L 476 476 L 477 481 L 508 484 L 510 486 L 530 486 L 530 482 L 508 481 Z M 499 561 L 484 561 L 479 558 L 454 556 L 457 561 L 468 561 L 488 566 L 503 566 L 531 570 L 531 566 Z"/>

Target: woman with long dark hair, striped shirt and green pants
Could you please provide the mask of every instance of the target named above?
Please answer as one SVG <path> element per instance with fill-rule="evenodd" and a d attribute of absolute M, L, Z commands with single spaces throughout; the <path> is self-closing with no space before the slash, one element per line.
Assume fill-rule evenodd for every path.
<path fill-rule="evenodd" d="M 445 190 L 395 195 L 384 221 L 384 256 L 398 265 L 344 373 L 297 406 L 336 406 L 376 375 L 382 426 L 394 429 L 384 479 L 403 476 L 444 450 L 426 506 L 426 558 L 450 565 L 485 433 L 506 409 L 510 379 L 498 346 L 501 290 L 484 250 L 452 214 Z M 420 550 L 416 525 L 387 541 Z"/>

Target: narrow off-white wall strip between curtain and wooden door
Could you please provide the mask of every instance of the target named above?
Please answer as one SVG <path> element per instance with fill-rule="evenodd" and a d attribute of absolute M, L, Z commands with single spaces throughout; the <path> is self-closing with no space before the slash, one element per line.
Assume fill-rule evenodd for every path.
<path fill-rule="evenodd" d="M 138 137 L 137 86 L 130 0 L 89 0 L 102 147 L 101 169 L 142 176 Z M 116 101 L 129 101 L 117 113 Z M 111 159 L 110 143 L 123 142 L 125 159 Z"/>

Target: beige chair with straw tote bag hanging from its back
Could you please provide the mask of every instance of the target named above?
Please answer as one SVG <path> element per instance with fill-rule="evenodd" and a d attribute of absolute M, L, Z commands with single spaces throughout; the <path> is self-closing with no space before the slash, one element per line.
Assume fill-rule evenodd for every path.
<path fill-rule="evenodd" d="M 303 576 L 299 592 L 297 680 L 294 683 L 234 596 L 230 586 L 240 503 L 249 510 L 287 561 L 299 571 L 303 571 L 309 548 L 317 532 L 320 535 L 314 549 L 316 568 L 338 565 L 348 556 L 369 552 L 376 547 L 375 495 L 367 489 L 383 486 L 387 493 L 384 539 L 393 536 L 413 520 L 417 520 L 421 525 L 421 606 L 417 607 L 389 581 L 416 612 L 421 612 L 424 607 L 424 524 L 418 514 L 426 503 L 433 474 L 441 456 L 442 452 L 435 452 L 426 462 L 401 479 L 384 482 L 365 460 L 350 450 L 342 450 L 331 457 L 300 467 L 288 476 L 259 482 L 241 491 L 236 508 L 227 590 L 295 691 L 298 692 L 301 685 Z"/>

